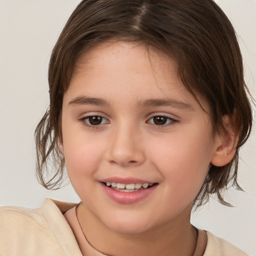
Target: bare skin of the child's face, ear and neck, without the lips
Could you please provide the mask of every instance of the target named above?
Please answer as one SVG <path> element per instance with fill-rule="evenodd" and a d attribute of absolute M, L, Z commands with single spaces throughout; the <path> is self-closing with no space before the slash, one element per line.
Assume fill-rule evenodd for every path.
<path fill-rule="evenodd" d="M 223 143 L 223 136 L 212 134 L 209 107 L 197 96 L 206 111 L 181 83 L 175 62 L 142 42 L 101 43 L 77 60 L 63 97 L 61 150 L 82 201 L 81 227 L 97 250 L 122 256 L 192 255 L 193 200 L 210 164 L 232 158 L 232 139 Z M 77 100 L 82 97 L 102 100 Z M 168 104 L 162 104 L 166 99 Z M 103 118 L 92 125 L 89 116 Z M 154 116 L 163 116 L 165 123 L 159 125 Z M 102 189 L 101 181 L 113 176 L 156 186 L 135 203 L 118 203 Z M 74 209 L 65 216 L 88 255 L 91 248 Z"/>

